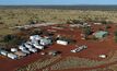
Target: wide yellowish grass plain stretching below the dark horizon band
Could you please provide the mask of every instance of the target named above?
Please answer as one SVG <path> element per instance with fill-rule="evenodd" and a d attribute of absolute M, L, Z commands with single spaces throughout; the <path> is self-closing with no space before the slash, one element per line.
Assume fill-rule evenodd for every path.
<path fill-rule="evenodd" d="M 117 22 L 116 11 L 81 11 L 81 10 L 57 10 L 57 9 L 0 9 L 1 26 L 11 27 L 27 24 L 30 20 L 66 23 L 68 20 L 109 20 Z M 9 33 L 0 29 L 0 35 Z M 11 31 L 10 31 L 11 32 Z"/>

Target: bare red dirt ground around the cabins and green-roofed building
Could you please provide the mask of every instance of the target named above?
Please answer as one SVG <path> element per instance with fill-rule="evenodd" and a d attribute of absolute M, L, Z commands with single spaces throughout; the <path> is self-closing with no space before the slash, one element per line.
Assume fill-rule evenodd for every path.
<path fill-rule="evenodd" d="M 50 26 L 44 27 L 45 29 L 56 29 L 57 33 L 56 35 L 65 35 L 65 36 L 73 36 L 73 39 L 77 40 L 77 45 L 87 45 L 87 49 L 78 52 L 78 54 L 72 54 L 70 52 L 71 49 L 74 48 L 74 44 L 70 44 L 68 46 L 62 46 L 62 45 L 57 45 L 54 44 L 49 48 L 45 49 L 44 51 L 48 51 L 51 49 L 56 49 L 61 51 L 62 57 L 68 57 L 68 56 L 75 56 L 75 57 L 81 57 L 81 58 L 87 58 L 87 59 L 93 59 L 93 60 L 103 60 L 98 58 L 98 55 L 105 54 L 108 55 L 108 52 L 114 51 L 117 49 L 117 44 L 114 42 L 114 32 L 117 28 L 116 25 L 110 25 L 112 28 L 109 28 L 109 34 L 107 37 L 104 38 L 104 40 L 82 40 L 81 39 L 81 29 L 75 28 L 74 31 L 71 31 L 68 25 L 63 29 L 56 29 L 51 28 Z M 97 31 L 98 28 L 104 28 L 102 25 L 93 25 L 93 31 Z M 46 58 L 45 56 L 40 56 L 38 54 L 33 54 L 30 55 L 25 58 L 22 58 L 20 60 L 11 60 L 9 58 L 1 57 L 0 58 L 0 71 L 13 71 L 16 68 L 26 66 L 31 62 L 34 62 L 38 59 Z M 113 64 L 113 63 L 112 63 Z M 101 66 L 101 67 L 95 67 L 96 68 L 105 68 L 107 64 Z M 93 69 L 93 68 L 90 68 Z M 78 71 L 78 69 L 71 69 L 72 71 Z M 71 70 L 65 70 L 65 71 L 71 71 Z M 82 71 L 83 69 L 80 69 Z"/>

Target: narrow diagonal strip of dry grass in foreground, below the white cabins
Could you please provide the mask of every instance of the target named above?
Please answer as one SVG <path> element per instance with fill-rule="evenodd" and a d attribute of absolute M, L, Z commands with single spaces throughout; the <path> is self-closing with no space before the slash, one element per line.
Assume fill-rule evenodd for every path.
<path fill-rule="evenodd" d="M 42 69 L 42 68 L 50 64 L 51 62 L 56 61 L 59 58 L 60 58 L 60 56 L 52 57 L 52 58 L 46 59 L 46 60 L 38 60 L 31 64 L 22 67 L 22 68 L 17 69 L 16 71 L 36 71 L 36 69 Z M 44 71 L 47 71 L 47 70 L 48 69 L 44 69 Z"/>

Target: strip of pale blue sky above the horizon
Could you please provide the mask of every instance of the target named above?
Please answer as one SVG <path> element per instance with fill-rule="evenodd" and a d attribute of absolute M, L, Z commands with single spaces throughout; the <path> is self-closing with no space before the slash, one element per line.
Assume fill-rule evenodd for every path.
<path fill-rule="evenodd" d="M 0 5 L 117 4 L 117 0 L 0 0 Z"/>

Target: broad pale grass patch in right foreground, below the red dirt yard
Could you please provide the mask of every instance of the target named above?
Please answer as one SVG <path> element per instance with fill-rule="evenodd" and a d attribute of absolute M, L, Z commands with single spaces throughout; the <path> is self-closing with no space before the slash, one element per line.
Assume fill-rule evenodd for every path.
<path fill-rule="evenodd" d="M 67 57 L 60 62 L 51 66 L 51 70 L 62 70 L 72 68 L 90 68 L 105 63 L 104 61 L 90 60 L 79 57 Z"/>

